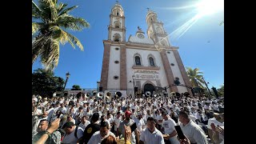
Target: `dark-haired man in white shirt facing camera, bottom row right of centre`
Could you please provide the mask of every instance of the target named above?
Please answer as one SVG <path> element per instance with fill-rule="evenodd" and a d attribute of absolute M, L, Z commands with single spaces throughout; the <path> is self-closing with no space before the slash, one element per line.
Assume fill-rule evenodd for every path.
<path fill-rule="evenodd" d="M 139 138 L 139 143 L 141 144 L 164 144 L 164 138 L 162 133 L 155 128 L 156 122 L 154 118 L 149 117 L 146 120 L 146 129 L 142 130 L 142 134 Z"/>

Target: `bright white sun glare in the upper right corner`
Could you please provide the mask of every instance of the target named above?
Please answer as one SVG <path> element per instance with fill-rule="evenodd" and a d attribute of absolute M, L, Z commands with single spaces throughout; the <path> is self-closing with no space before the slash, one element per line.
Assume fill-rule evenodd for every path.
<path fill-rule="evenodd" d="M 202 0 L 197 4 L 198 17 L 224 10 L 224 0 Z"/>

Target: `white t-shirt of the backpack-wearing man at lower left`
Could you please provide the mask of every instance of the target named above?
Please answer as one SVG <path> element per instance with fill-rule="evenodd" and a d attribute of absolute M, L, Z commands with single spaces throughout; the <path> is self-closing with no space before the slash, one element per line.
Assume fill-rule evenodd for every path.
<path fill-rule="evenodd" d="M 75 138 L 74 136 L 75 128 L 76 127 L 74 127 L 74 130 L 70 134 L 65 135 L 65 137 L 62 140 L 62 143 L 77 144 L 78 138 L 81 138 L 83 135 L 83 130 L 81 127 L 78 127 L 78 132 L 77 132 L 78 138 Z"/>

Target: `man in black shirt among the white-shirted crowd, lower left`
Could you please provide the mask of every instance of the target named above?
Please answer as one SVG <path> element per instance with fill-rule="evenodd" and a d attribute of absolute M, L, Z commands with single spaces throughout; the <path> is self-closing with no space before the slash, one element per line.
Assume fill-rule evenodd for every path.
<path fill-rule="evenodd" d="M 100 125 L 98 124 L 99 114 L 96 112 L 90 118 L 90 124 L 86 126 L 86 129 L 83 132 L 82 142 L 80 143 L 88 143 L 92 135 L 100 130 Z"/>

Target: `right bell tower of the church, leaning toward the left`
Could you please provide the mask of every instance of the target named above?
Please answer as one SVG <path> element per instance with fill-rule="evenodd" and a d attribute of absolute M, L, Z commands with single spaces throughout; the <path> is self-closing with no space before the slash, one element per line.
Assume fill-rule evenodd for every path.
<path fill-rule="evenodd" d="M 158 15 L 149 10 L 146 14 L 146 23 L 147 23 L 147 35 L 154 41 L 155 45 L 158 46 L 170 46 L 170 41 L 166 30 L 163 28 L 163 23 L 158 21 Z"/>

